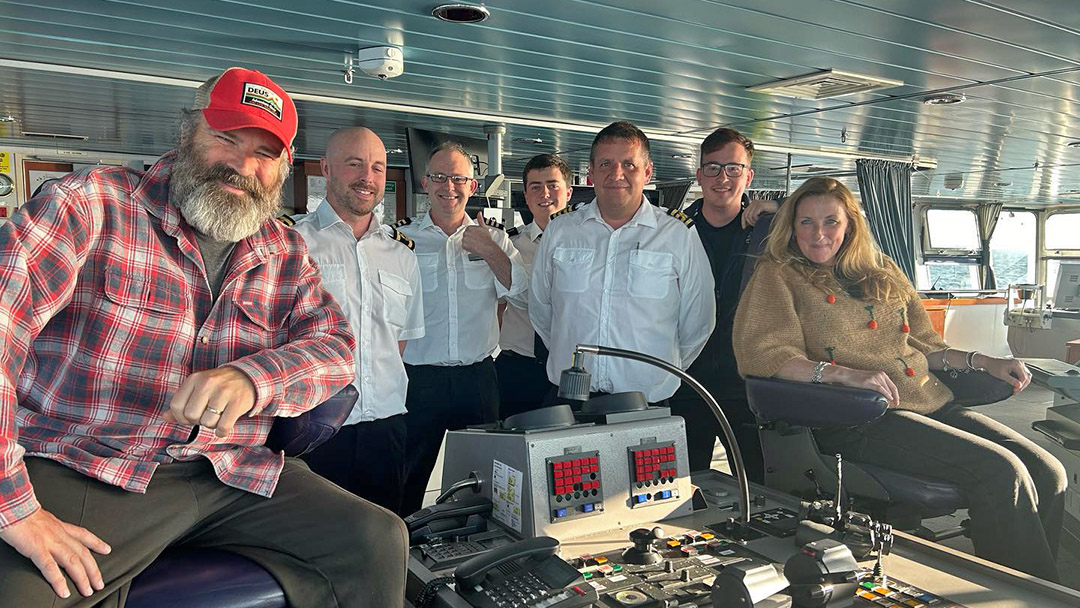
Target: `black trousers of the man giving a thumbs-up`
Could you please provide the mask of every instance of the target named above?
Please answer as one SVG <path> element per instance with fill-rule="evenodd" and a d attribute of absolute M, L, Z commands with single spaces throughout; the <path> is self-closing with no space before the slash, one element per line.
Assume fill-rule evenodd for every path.
<path fill-rule="evenodd" d="M 499 380 L 491 357 L 461 366 L 405 365 L 405 490 L 402 516 L 419 511 L 446 431 L 494 422 L 499 416 Z"/>

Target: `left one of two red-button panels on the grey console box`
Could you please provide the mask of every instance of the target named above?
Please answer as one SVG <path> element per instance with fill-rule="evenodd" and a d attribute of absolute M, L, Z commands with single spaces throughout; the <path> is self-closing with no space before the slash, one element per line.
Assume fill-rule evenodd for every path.
<path fill-rule="evenodd" d="M 585 451 L 546 459 L 551 522 L 604 512 L 599 452 Z"/>

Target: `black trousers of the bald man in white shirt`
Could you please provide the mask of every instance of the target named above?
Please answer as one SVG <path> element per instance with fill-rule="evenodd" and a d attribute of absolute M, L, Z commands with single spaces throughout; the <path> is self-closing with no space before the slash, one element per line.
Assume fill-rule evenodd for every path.
<path fill-rule="evenodd" d="M 311 470 L 352 494 L 397 513 L 405 487 L 405 415 L 341 427 L 311 454 Z"/>

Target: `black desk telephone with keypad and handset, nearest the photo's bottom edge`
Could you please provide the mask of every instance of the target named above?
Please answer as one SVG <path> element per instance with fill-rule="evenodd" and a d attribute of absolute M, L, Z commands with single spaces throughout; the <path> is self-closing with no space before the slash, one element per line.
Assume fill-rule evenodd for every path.
<path fill-rule="evenodd" d="M 537 537 L 477 555 L 454 572 L 458 593 L 476 608 L 579 608 L 599 602 L 557 551 L 557 540 Z"/>

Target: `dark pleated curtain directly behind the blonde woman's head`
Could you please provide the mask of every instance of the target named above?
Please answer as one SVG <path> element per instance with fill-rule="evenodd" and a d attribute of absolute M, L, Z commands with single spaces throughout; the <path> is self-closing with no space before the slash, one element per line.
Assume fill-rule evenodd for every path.
<path fill-rule="evenodd" d="M 915 283 L 912 165 L 877 159 L 855 161 L 859 191 L 878 246 Z"/>

